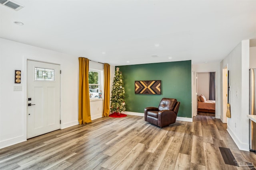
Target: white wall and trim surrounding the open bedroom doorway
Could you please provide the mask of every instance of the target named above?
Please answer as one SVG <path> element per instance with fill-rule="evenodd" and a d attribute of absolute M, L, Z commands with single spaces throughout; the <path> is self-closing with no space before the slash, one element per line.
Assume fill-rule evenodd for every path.
<path fill-rule="evenodd" d="M 192 111 L 193 115 L 196 115 L 196 73 L 199 72 L 215 72 L 215 98 L 216 98 L 216 106 L 215 106 L 215 117 L 220 119 L 220 63 L 202 63 L 202 64 L 192 64 Z"/>

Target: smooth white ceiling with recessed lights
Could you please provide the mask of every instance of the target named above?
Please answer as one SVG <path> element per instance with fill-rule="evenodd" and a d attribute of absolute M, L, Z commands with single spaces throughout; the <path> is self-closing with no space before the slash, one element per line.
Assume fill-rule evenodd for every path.
<path fill-rule="evenodd" d="M 25 7 L 0 6 L 1 38 L 113 65 L 220 62 L 256 38 L 256 1 L 14 1 Z"/>

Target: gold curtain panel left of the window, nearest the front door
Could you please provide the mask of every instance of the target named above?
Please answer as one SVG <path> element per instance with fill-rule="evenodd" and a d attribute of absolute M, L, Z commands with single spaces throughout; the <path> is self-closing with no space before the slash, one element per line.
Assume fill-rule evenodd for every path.
<path fill-rule="evenodd" d="M 79 57 L 79 95 L 78 121 L 79 125 L 92 122 L 89 94 L 89 59 Z"/>

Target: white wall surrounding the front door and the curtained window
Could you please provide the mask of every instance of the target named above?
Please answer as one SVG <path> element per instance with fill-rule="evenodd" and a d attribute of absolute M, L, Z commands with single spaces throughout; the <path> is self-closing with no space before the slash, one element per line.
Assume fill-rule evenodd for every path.
<path fill-rule="evenodd" d="M 61 129 L 78 124 L 78 57 L 50 51 L 6 39 L 0 39 L 0 148 L 26 141 L 26 61 L 32 59 L 60 64 Z M 102 69 L 103 64 L 90 62 L 89 67 Z M 13 91 L 14 70 L 21 70 L 22 91 Z M 111 80 L 114 66 L 110 66 Z M 111 83 L 112 84 L 112 83 Z M 96 101 L 92 119 L 102 117 L 103 101 Z M 91 107 L 92 108 L 92 107 Z"/>

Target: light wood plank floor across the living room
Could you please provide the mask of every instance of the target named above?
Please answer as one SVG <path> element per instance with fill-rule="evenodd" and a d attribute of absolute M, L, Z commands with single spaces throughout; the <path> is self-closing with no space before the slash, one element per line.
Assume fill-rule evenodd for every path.
<path fill-rule="evenodd" d="M 254 152 L 241 151 L 226 124 L 206 114 L 193 122 L 159 128 L 144 117 L 105 117 L 0 149 L 0 169 L 232 170 L 219 147 L 256 165 Z M 248 167 L 247 167 L 248 168 Z"/>

